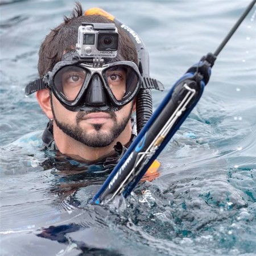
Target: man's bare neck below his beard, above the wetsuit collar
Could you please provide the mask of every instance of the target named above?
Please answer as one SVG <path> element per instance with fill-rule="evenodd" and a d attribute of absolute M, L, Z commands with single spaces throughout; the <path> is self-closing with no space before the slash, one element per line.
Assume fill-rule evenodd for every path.
<path fill-rule="evenodd" d="M 116 138 L 109 146 L 106 147 L 88 147 L 85 144 L 69 137 L 57 127 L 53 121 L 53 137 L 57 148 L 62 154 L 69 155 L 74 159 L 82 159 L 87 161 L 96 161 L 98 159 L 114 154 L 114 146 L 117 142 L 123 145 L 127 144 L 131 139 L 131 121 L 125 127 L 125 130 Z"/>

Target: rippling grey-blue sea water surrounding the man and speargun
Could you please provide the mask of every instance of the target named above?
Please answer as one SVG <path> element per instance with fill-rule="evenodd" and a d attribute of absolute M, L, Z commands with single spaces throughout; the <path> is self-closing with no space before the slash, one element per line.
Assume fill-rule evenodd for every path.
<path fill-rule="evenodd" d="M 72 1 L 6 1 L 1 10 L 1 255 L 255 255 L 256 9 L 213 67 L 203 97 L 159 156 L 161 174 L 126 201 L 87 205 L 106 176 L 14 142 L 47 118 L 24 86 L 38 48 Z M 154 108 L 214 52 L 249 1 L 84 1 L 127 23 L 150 52 Z"/>

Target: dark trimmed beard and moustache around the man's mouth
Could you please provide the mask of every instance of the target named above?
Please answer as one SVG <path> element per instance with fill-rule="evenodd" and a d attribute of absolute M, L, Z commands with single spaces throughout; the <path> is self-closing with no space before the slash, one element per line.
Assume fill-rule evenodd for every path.
<path fill-rule="evenodd" d="M 101 127 L 102 127 L 101 124 L 94 124 L 92 126 L 94 127 L 94 130 L 96 131 L 96 133 L 89 134 L 86 132 L 86 130 L 82 129 L 79 123 L 85 117 L 85 115 L 90 113 L 96 113 L 96 112 L 99 112 L 99 111 L 92 110 L 92 111 L 78 112 L 76 115 L 76 123 L 68 124 L 68 123 L 61 122 L 56 118 L 53 105 L 52 105 L 52 113 L 53 113 L 53 117 L 57 127 L 59 127 L 59 129 L 63 131 L 65 134 L 67 134 L 69 137 L 75 139 L 78 142 L 81 142 L 82 144 L 85 144 L 88 147 L 109 146 L 116 138 L 119 137 L 122 131 L 125 130 L 127 123 L 131 119 L 133 107 L 131 107 L 129 115 L 123 118 L 122 121 L 119 123 L 117 122 L 117 115 L 115 114 L 115 112 L 100 111 L 103 113 L 108 113 L 110 115 L 110 118 L 114 123 L 113 128 L 108 133 L 106 133 L 105 131 L 101 130 Z"/>

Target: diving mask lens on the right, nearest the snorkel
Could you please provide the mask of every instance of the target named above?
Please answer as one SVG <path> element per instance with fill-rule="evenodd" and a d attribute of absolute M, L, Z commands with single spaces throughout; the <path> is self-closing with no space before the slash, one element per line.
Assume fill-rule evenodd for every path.
<path fill-rule="evenodd" d="M 128 65 L 118 64 L 105 70 L 104 79 L 117 101 L 131 97 L 139 84 L 137 72 Z"/>

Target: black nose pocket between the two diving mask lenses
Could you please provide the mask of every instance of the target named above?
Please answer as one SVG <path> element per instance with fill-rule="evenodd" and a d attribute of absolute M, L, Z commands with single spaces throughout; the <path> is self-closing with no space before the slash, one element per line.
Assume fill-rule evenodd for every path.
<path fill-rule="evenodd" d="M 85 104 L 89 106 L 104 106 L 108 104 L 103 82 L 98 74 L 95 74 L 88 85 L 85 96 Z"/>

